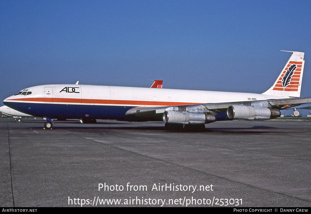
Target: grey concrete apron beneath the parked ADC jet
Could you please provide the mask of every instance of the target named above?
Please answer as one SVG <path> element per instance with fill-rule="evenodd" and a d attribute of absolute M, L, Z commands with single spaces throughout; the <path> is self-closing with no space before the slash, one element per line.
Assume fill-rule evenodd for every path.
<path fill-rule="evenodd" d="M 0 120 L 0 206 L 311 206 L 309 121 L 43 125 Z"/>

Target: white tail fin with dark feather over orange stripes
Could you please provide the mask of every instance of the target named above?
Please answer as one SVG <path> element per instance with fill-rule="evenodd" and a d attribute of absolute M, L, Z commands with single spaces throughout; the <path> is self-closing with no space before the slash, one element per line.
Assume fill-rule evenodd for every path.
<path fill-rule="evenodd" d="M 262 94 L 281 97 L 300 97 L 302 75 L 304 73 L 304 52 L 292 52 L 281 74 L 270 89 Z"/>

